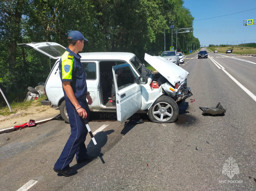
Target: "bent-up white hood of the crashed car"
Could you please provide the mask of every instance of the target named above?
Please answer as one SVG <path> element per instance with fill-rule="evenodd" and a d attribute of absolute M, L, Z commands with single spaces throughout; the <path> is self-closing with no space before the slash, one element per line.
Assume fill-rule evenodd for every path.
<path fill-rule="evenodd" d="M 183 68 L 171 63 L 169 60 L 161 56 L 151 56 L 145 53 L 144 59 L 153 66 L 159 73 L 162 74 L 173 86 L 176 83 L 182 83 L 186 80 L 189 74 Z"/>

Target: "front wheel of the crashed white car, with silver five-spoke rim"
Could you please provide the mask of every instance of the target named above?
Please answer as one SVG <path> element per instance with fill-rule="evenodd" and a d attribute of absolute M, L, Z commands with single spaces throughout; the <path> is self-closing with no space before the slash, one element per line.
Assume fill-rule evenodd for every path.
<path fill-rule="evenodd" d="M 162 110 L 164 108 L 166 110 Z M 160 109 L 162 111 L 160 111 Z M 155 103 L 149 109 L 148 115 L 149 115 L 150 121 L 152 122 L 171 123 L 177 120 L 178 114 L 179 114 L 179 108 L 176 102 L 171 97 L 161 96 L 155 101 Z"/>

